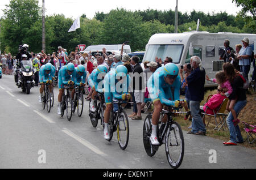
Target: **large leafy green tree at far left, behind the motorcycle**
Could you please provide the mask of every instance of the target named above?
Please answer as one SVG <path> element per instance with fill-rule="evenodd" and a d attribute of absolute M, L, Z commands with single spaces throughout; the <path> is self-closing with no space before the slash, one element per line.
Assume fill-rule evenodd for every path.
<path fill-rule="evenodd" d="M 11 0 L 3 10 L 1 49 L 10 46 L 11 53 L 18 53 L 20 44 L 27 44 L 25 38 L 32 25 L 39 20 L 40 7 L 37 0 Z"/>

